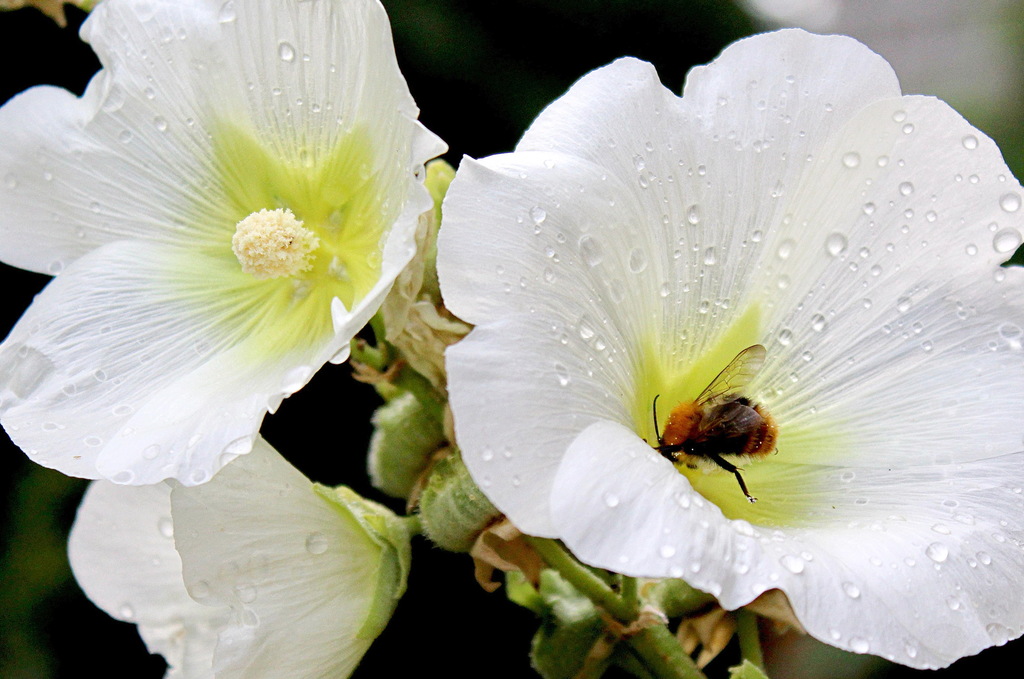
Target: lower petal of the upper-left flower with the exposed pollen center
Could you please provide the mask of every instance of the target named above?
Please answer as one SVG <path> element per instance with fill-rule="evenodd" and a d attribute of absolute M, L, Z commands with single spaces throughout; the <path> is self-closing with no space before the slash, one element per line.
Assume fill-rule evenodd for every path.
<path fill-rule="evenodd" d="M 138 242 L 75 262 L 0 346 L 12 439 L 41 464 L 119 483 L 201 483 L 247 453 L 267 410 L 347 338 L 322 323 L 304 346 L 266 345 L 278 331 L 258 297 L 196 294 L 228 284 L 222 268 Z"/>

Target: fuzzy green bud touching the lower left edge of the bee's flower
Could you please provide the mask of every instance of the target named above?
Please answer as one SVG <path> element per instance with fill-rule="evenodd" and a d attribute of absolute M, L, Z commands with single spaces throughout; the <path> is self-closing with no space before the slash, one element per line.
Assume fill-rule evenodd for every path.
<path fill-rule="evenodd" d="M 501 516 L 469 475 L 462 456 L 453 453 L 430 471 L 420 496 L 423 533 L 450 552 L 468 552 L 477 536 Z"/>

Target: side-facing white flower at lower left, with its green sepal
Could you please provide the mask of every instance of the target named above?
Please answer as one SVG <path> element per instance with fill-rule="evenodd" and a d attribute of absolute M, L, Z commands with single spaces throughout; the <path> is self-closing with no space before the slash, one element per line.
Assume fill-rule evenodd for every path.
<path fill-rule="evenodd" d="M 137 623 L 169 677 L 346 677 L 404 590 L 409 534 L 258 438 L 199 487 L 93 483 L 69 552 L 86 594 Z"/>

